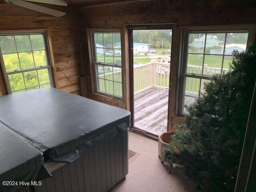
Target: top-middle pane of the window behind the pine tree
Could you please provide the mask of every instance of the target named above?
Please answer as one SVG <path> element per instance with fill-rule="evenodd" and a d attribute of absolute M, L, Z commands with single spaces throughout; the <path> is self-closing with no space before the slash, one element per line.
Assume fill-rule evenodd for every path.
<path fill-rule="evenodd" d="M 206 35 L 205 53 L 223 54 L 225 33 L 208 33 Z"/>

